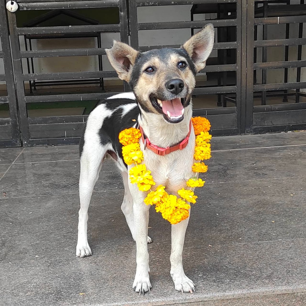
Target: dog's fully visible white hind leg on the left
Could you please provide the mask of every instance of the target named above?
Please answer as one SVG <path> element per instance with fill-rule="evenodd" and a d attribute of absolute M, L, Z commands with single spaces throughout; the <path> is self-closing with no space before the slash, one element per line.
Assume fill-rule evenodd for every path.
<path fill-rule="evenodd" d="M 105 146 L 97 144 L 94 148 L 87 148 L 86 143 L 80 158 L 80 210 L 76 256 L 86 257 L 91 255 L 87 241 L 88 207 L 93 188 L 99 177 L 103 157 L 107 151 Z"/>

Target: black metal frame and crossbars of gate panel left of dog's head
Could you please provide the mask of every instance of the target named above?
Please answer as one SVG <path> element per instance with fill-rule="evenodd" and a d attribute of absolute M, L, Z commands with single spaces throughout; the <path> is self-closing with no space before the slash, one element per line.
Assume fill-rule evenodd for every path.
<path fill-rule="evenodd" d="M 84 93 L 84 94 L 58 94 L 58 95 L 25 95 L 24 81 L 30 80 L 63 80 L 63 79 L 88 79 L 101 77 L 116 77 L 114 71 L 103 72 L 80 72 L 80 73 L 23 73 L 22 58 L 30 57 L 54 57 L 54 56 L 76 56 L 76 55 L 103 55 L 104 49 L 69 49 L 69 50 L 40 50 L 40 51 L 21 51 L 19 45 L 19 35 L 31 34 L 54 34 L 54 33 L 88 33 L 88 32 L 120 32 L 121 41 L 129 43 L 128 38 L 128 22 L 126 0 L 91 0 L 91 1 L 31 1 L 18 2 L 20 10 L 28 9 L 74 9 L 74 8 L 103 8 L 118 7 L 119 24 L 103 24 L 103 25 L 86 25 L 86 26 L 58 26 L 58 27 L 28 27 L 17 28 L 16 15 L 8 12 L 8 22 L 11 35 L 13 65 L 16 78 L 16 92 L 20 114 L 20 125 L 22 132 L 22 144 L 24 147 L 33 145 L 58 145 L 58 144 L 78 144 L 80 137 L 30 137 L 30 128 L 34 127 L 44 131 L 58 130 L 58 124 L 61 129 L 67 129 L 72 126 L 83 125 L 87 116 L 56 116 L 56 117 L 38 117 L 28 118 L 27 103 L 39 102 L 60 102 L 74 100 L 100 100 L 114 93 Z M 124 91 L 129 89 L 128 84 L 124 82 Z"/>

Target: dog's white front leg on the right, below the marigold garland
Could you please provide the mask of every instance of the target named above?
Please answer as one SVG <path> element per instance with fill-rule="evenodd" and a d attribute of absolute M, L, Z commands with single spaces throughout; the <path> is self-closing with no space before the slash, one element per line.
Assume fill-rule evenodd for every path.
<path fill-rule="evenodd" d="M 176 290 L 193 293 L 195 291 L 195 284 L 185 275 L 182 260 L 185 232 L 188 221 L 189 218 L 171 226 L 170 274 Z"/>

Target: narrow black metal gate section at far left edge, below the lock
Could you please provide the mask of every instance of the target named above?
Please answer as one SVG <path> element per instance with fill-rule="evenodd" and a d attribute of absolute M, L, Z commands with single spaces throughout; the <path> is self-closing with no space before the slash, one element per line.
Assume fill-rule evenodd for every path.
<path fill-rule="evenodd" d="M 9 32 L 6 24 L 5 3 L 0 6 L 0 35 L 2 51 L 0 58 L 3 59 L 5 74 L 0 75 L 0 80 L 6 82 L 7 95 L 0 97 L 0 104 L 8 103 L 9 118 L 0 118 L 0 132 L 4 129 L 11 129 L 11 138 L 6 140 L 0 139 L 0 147 L 20 147 L 20 131 L 17 113 L 17 101 L 15 95 L 15 82 L 13 74 L 13 64 L 11 58 L 11 48 L 9 43 Z"/>

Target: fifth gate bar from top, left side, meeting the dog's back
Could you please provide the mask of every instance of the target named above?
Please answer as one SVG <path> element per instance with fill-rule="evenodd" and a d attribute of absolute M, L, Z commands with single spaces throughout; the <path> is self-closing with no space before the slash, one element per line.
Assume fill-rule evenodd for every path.
<path fill-rule="evenodd" d="M 89 94 L 60 94 L 60 95 L 31 95 L 25 96 L 25 103 L 39 103 L 39 102 L 58 102 L 58 101 L 86 101 L 86 100 L 102 100 L 116 95 L 120 92 L 94 92 Z"/>

